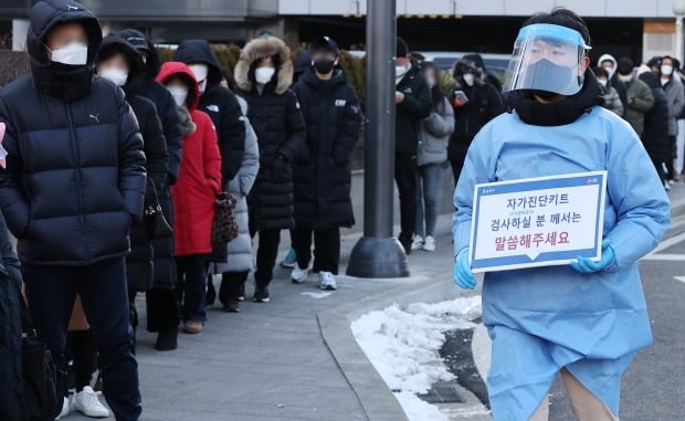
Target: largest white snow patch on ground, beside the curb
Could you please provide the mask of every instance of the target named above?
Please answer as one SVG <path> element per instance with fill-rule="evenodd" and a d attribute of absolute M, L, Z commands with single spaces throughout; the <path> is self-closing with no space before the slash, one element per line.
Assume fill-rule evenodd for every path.
<path fill-rule="evenodd" d="M 438 381 L 450 381 L 438 350 L 444 331 L 474 326 L 481 314 L 481 297 L 457 298 L 436 304 L 397 305 L 371 312 L 352 322 L 357 343 L 412 421 L 446 420 L 436 407 L 415 393 L 425 393 Z"/>

